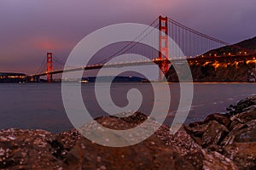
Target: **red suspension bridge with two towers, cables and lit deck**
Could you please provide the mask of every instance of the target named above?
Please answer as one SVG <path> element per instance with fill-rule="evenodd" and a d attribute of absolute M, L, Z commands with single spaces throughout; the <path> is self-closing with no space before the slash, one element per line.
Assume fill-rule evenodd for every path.
<path fill-rule="evenodd" d="M 159 29 L 157 34 L 152 33 L 154 28 Z M 155 50 L 154 48 L 150 48 L 147 45 L 140 43 L 145 37 L 152 41 L 155 47 L 159 47 L 159 50 Z M 169 42 L 168 37 L 171 37 L 175 43 Z M 125 44 L 123 48 L 116 50 L 113 54 L 104 57 L 94 64 L 70 66 L 70 68 L 65 70 L 54 70 L 54 64 L 64 66 L 65 62 L 54 54 L 47 53 L 46 58 L 44 57 L 37 73 L 29 76 L 29 78 L 31 82 L 39 82 L 40 77 L 47 76 L 47 82 L 53 82 L 53 75 L 63 73 L 64 71 L 96 70 L 101 69 L 103 66 L 106 68 L 115 68 L 134 65 L 152 65 L 154 62 L 160 67 L 159 81 L 161 81 L 169 71 L 172 62 L 177 62 L 179 59 L 187 59 L 188 61 L 240 58 L 251 59 L 255 56 L 254 52 L 236 46 L 232 47 L 238 48 L 239 54 L 230 54 L 229 52 L 223 54 L 209 53 L 212 49 L 230 45 L 229 42 L 224 42 L 217 38 L 207 36 L 206 34 L 195 31 L 194 29 L 184 26 L 168 17 L 159 16 L 146 30 L 138 35 L 133 42 Z M 177 50 L 176 46 L 180 48 L 180 50 Z M 138 57 L 138 55 L 131 56 L 128 54 L 140 54 L 141 56 L 146 56 L 147 59 L 142 59 Z M 122 59 L 116 59 L 113 63 L 108 63 L 110 59 L 114 59 L 120 55 L 123 55 L 124 57 Z"/>

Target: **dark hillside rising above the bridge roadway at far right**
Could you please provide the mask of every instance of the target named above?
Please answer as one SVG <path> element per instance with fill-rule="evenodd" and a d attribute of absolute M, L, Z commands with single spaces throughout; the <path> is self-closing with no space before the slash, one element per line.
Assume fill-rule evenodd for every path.
<path fill-rule="evenodd" d="M 256 53 L 256 37 L 238 42 L 236 44 L 225 46 L 223 48 L 216 48 L 208 51 L 204 55 L 229 55 L 229 54 L 255 54 Z"/>

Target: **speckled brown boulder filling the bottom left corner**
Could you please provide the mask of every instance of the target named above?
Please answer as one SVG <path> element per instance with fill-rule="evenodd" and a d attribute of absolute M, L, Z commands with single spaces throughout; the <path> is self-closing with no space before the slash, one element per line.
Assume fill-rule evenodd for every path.
<path fill-rule="evenodd" d="M 57 158 L 55 136 L 43 130 L 6 129 L 0 131 L 0 168 L 66 168 Z"/>

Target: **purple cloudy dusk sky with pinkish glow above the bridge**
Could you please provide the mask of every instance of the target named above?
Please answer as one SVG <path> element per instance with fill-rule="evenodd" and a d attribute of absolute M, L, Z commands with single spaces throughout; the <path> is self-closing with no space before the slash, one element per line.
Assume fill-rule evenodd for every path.
<path fill-rule="evenodd" d="M 166 15 L 226 42 L 254 37 L 255 0 L 1 0 L 0 72 L 38 70 L 47 51 L 65 60 L 92 31 Z"/>

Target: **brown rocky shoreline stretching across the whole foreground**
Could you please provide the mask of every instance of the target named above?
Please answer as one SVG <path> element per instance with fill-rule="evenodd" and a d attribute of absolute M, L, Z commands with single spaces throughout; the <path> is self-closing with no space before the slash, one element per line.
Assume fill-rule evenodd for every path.
<path fill-rule="evenodd" d="M 0 131 L 1 169 L 256 169 L 256 96 L 230 105 L 171 135 L 162 125 L 150 138 L 129 147 L 91 142 L 73 129 L 53 134 L 43 130 Z M 105 116 L 106 127 L 134 127 L 148 117 Z M 84 127 L 86 128 L 86 126 Z"/>

